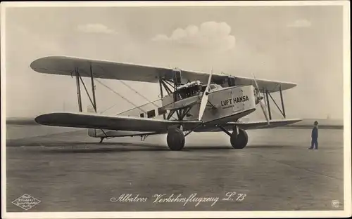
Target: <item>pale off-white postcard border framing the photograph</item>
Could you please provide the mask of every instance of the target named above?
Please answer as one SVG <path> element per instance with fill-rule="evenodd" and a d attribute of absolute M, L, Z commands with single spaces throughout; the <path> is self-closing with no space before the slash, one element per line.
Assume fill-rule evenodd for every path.
<path fill-rule="evenodd" d="M 148 211 L 6 212 L 6 63 L 5 19 L 9 7 L 106 6 L 344 6 L 344 211 Z M 349 1 L 87 1 L 1 2 L 1 216 L 2 218 L 338 218 L 351 216 L 351 35 Z"/>

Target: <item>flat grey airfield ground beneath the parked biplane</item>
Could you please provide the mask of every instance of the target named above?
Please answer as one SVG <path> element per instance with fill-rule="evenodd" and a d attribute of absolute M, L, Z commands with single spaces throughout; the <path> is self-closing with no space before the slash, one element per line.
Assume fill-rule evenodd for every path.
<path fill-rule="evenodd" d="M 7 127 L 7 211 L 30 194 L 37 211 L 320 211 L 343 210 L 343 130 L 320 130 L 320 150 L 307 150 L 309 129 L 249 131 L 234 150 L 225 133 L 192 133 L 183 151 L 165 136 L 115 138 L 99 144 L 87 131 L 13 137 Z M 12 135 L 9 137 L 9 135 Z M 222 201 L 227 192 L 246 194 Z M 154 194 L 219 197 L 213 202 L 153 203 Z M 145 202 L 111 201 L 121 194 Z M 339 200 L 339 206 L 332 206 Z"/>

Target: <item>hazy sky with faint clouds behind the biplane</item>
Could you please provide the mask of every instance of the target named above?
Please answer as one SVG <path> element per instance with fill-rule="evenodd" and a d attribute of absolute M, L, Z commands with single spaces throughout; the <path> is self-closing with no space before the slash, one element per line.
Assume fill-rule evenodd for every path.
<path fill-rule="evenodd" d="M 5 16 L 6 117 L 77 112 L 75 79 L 30 69 L 68 55 L 291 81 L 287 117 L 343 118 L 342 6 L 31 7 Z M 124 81 L 142 98 L 121 81 L 101 82 L 134 105 L 158 99 L 158 84 Z M 112 107 L 106 114 L 133 107 L 101 84 L 96 99 L 100 112 Z"/>

